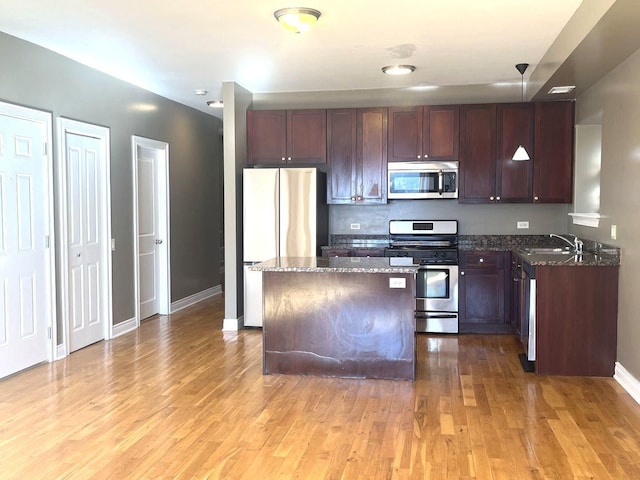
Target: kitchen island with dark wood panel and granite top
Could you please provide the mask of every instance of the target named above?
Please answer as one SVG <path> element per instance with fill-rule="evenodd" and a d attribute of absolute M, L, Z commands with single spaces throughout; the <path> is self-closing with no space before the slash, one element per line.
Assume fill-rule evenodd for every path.
<path fill-rule="evenodd" d="M 415 379 L 414 266 L 281 257 L 262 271 L 263 373 Z"/>

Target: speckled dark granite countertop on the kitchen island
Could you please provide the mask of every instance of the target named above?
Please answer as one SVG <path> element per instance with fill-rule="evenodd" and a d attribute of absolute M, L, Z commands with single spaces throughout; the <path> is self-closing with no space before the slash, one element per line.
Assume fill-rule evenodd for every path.
<path fill-rule="evenodd" d="M 418 266 L 397 265 L 388 257 L 280 257 L 249 267 L 262 272 L 415 273 Z"/>

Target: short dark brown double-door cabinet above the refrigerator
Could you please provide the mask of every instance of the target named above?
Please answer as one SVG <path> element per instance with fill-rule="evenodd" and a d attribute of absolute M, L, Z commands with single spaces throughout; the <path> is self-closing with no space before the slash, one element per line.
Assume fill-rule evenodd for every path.
<path fill-rule="evenodd" d="M 326 110 L 247 111 L 248 164 L 327 161 Z"/>

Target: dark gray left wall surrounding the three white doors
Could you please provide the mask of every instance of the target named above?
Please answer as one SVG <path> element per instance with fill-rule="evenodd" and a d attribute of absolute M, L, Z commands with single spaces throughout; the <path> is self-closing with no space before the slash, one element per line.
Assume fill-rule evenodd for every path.
<path fill-rule="evenodd" d="M 221 120 L 1 32 L 0 58 L 1 100 L 110 129 L 114 323 L 135 315 L 131 135 L 169 143 L 171 301 L 219 285 Z"/>

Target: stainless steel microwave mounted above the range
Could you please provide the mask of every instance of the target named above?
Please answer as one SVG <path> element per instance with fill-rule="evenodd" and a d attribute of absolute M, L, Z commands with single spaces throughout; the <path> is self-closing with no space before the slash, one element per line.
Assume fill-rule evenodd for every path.
<path fill-rule="evenodd" d="M 389 162 L 388 192 L 393 198 L 458 198 L 458 162 Z"/>

